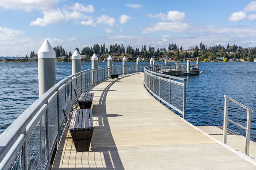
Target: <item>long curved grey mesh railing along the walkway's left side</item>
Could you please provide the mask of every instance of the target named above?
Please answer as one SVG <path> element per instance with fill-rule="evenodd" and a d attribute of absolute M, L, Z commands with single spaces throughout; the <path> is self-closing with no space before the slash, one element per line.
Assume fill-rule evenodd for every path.
<path fill-rule="evenodd" d="M 58 82 L 0 135 L 0 170 L 49 169 L 53 150 L 64 128 L 62 108 L 68 96 L 76 101 L 73 89 L 81 86 L 85 92 L 110 79 L 109 73 L 123 75 L 126 71 L 131 74 L 143 71 L 144 67 L 140 65 L 139 71 L 137 65 L 89 69 Z"/>

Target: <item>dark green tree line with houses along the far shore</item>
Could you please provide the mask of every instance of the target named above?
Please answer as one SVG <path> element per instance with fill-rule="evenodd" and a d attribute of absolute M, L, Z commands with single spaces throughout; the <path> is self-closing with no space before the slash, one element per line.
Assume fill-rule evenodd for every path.
<path fill-rule="evenodd" d="M 68 60 L 72 56 L 72 51 L 65 51 L 65 49 L 58 45 L 53 48 L 56 52 L 56 57 L 62 57 L 64 56 L 65 60 Z M 253 61 L 253 59 L 256 59 L 256 47 L 255 48 L 243 48 L 239 45 L 230 45 L 228 44 L 225 48 L 223 45 L 216 45 L 216 46 L 207 46 L 200 43 L 199 47 L 196 46 L 189 46 L 187 50 L 183 49 L 182 46 L 178 48 L 176 43 L 169 43 L 168 48 L 157 48 L 155 49 L 153 46 L 149 46 L 148 48 L 146 45 L 143 45 L 141 49 L 139 48 L 133 48 L 130 45 L 124 47 L 123 44 L 111 44 L 109 48 L 106 47 L 105 43 L 103 45 L 94 44 L 93 47 L 87 46 L 84 47 L 81 51 L 79 48 L 75 48 L 75 50 L 78 50 L 78 52 L 81 55 L 87 55 L 92 56 L 94 53 L 103 55 L 103 54 L 112 54 L 112 53 L 118 53 L 118 54 L 124 54 L 128 53 L 132 57 L 140 56 L 142 58 L 151 58 L 153 56 L 158 57 L 160 55 L 167 56 L 167 57 L 174 57 L 175 59 L 184 59 L 184 58 L 190 58 L 190 57 L 201 57 L 202 60 L 209 59 L 214 60 L 216 57 L 223 57 L 223 58 L 237 58 L 237 59 L 244 59 L 247 60 L 247 57 L 249 57 L 249 61 Z M 37 54 L 35 54 L 35 51 L 31 51 L 30 57 L 37 57 Z M 26 55 L 26 58 L 28 58 L 28 55 Z"/>

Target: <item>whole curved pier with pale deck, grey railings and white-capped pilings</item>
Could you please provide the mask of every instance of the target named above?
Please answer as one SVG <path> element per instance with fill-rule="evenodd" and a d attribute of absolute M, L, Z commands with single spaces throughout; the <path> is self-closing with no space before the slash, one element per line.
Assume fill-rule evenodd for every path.
<path fill-rule="evenodd" d="M 186 121 L 186 79 L 169 73 L 198 74 L 198 63 L 188 60 L 183 70 L 179 63 L 156 65 L 154 59 L 151 65 L 140 65 L 140 59 L 127 65 L 124 57 L 123 65 L 112 66 L 110 56 L 108 67 L 98 68 L 93 55 L 92 69 L 81 71 L 75 51 L 72 75 L 55 84 L 55 54 L 47 40 L 39 52 L 40 97 L 0 135 L 1 170 L 256 169 L 250 108 L 237 102 L 247 109 L 247 127 L 233 122 L 247 130 L 246 138 L 227 128 L 228 101 L 236 102 L 228 96 L 223 127 Z M 77 89 L 94 94 L 93 135 L 84 152 L 76 151 L 62 112 L 68 103 L 79 109 Z"/>

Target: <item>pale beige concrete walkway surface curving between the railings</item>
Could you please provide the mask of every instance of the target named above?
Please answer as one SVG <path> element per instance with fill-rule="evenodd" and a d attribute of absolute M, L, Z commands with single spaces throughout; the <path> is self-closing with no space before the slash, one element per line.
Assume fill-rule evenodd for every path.
<path fill-rule="evenodd" d="M 66 129 L 53 169 L 256 170 L 160 104 L 143 79 L 126 75 L 93 88 L 91 150 L 77 153 Z"/>

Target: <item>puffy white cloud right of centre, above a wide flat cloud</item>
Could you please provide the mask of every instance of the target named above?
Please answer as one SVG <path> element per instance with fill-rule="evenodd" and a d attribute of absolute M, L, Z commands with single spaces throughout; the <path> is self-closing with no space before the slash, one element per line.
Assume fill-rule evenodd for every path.
<path fill-rule="evenodd" d="M 170 21 L 185 21 L 186 20 L 186 14 L 184 12 L 179 11 L 169 11 L 167 14 L 164 14 L 162 12 L 159 12 L 158 14 L 148 14 L 148 17 L 151 18 L 160 18 L 163 21 L 170 20 Z"/>

